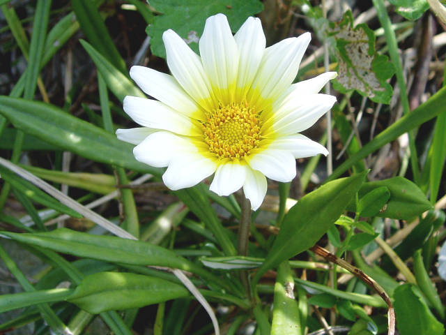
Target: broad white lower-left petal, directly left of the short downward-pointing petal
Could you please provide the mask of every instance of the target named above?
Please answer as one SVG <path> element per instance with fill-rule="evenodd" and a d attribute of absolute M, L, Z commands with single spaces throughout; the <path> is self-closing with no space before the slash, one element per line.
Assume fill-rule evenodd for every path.
<path fill-rule="evenodd" d="M 190 152 L 174 157 L 162 175 L 164 184 L 171 190 L 179 190 L 197 185 L 215 172 L 217 163 L 199 154 Z"/>

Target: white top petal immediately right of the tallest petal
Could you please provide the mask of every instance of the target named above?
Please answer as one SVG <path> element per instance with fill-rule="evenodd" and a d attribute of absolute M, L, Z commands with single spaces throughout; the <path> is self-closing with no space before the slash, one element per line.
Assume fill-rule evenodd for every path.
<path fill-rule="evenodd" d="M 248 17 L 245 23 L 238 29 L 234 36 L 240 52 L 240 64 L 238 66 L 237 89 L 241 99 L 251 87 L 254 76 L 259 70 L 266 46 L 265 34 L 258 17 Z"/>

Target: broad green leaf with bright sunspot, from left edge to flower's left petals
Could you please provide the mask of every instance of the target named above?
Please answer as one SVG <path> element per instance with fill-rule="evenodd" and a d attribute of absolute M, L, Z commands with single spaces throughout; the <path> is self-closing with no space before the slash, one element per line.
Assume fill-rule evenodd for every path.
<path fill-rule="evenodd" d="M 114 134 L 72 117 L 54 105 L 0 96 L 0 114 L 25 133 L 85 158 L 161 175 L 161 169 L 134 159 L 132 144 L 120 141 Z"/>

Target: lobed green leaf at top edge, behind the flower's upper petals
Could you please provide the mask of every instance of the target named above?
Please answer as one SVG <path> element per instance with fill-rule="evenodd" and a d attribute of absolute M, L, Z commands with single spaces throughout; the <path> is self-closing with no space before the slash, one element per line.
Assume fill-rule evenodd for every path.
<path fill-rule="evenodd" d="M 198 40 L 208 17 L 223 13 L 228 17 L 232 31 L 237 31 L 247 17 L 263 10 L 259 0 L 151 0 L 150 4 L 162 13 L 147 27 L 152 53 L 162 58 L 166 57 L 162 33 L 167 29 L 173 29 L 198 53 Z"/>

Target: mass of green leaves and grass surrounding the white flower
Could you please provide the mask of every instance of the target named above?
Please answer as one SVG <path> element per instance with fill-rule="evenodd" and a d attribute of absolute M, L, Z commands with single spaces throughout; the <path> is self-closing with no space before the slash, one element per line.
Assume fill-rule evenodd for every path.
<path fill-rule="evenodd" d="M 398 21 L 395 11 L 407 20 L 418 20 L 429 5 L 425 0 L 390 0 L 395 8 L 388 10 L 383 1 L 374 0 L 378 20 L 371 20 L 385 35 L 376 40 L 367 24 L 354 24 L 356 15 L 369 5 L 354 3 L 341 22 L 330 24 L 334 13 L 329 11 L 325 17 L 322 6 L 312 6 L 314 1 L 282 2 L 284 6 L 260 0 L 73 0 L 60 7 L 49 0 L 24 5 L 0 0 L 6 20 L 0 29 L 6 41 L 1 51 L 6 59 L 3 68 L 7 68 L 0 73 L 0 89 L 1 94 L 9 94 L 0 96 L 1 162 L 5 158 L 20 162 L 56 187 L 70 186 L 68 196 L 77 198 L 79 204 L 108 199 L 99 207 L 99 215 L 134 237 L 141 230 L 140 240 L 129 240 L 108 236 L 101 227 L 91 229 L 89 218 L 0 165 L 0 224 L 4 230 L 0 232 L 0 258 L 24 290 L 0 296 L 0 332 L 34 323 L 36 334 L 96 334 L 89 327 L 101 318 L 109 329 L 101 329 L 100 334 L 138 334 L 136 322 L 147 320 L 150 325 L 144 327 L 155 335 L 208 334 L 211 324 L 203 318 L 197 301 L 171 270 L 166 271 L 180 269 L 189 274 L 212 308 L 229 306 L 230 314 L 217 315 L 229 335 L 243 332 L 240 327 L 248 322 L 261 335 L 303 335 L 307 327 L 308 332 L 317 332 L 322 326 L 310 305 L 330 308 L 339 325 L 350 327 L 348 334 L 385 334 L 383 292 L 377 295 L 360 282 L 361 271 L 394 303 L 401 335 L 443 334 L 445 308 L 431 275 L 437 273 L 434 261 L 446 218 L 443 211 L 433 209 L 444 196 L 446 89 L 436 91 L 435 85 L 428 85 L 420 92 L 421 101 L 425 97 L 426 101 L 410 111 L 408 98 L 420 97 L 408 95 L 405 78 L 413 76 L 416 86 L 420 69 L 406 64 L 407 73 L 403 73 L 400 55 L 405 48 L 419 47 L 413 44 L 413 29 L 424 27 L 419 22 L 403 23 L 404 31 L 392 26 Z M 266 10 L 261 13 L 263 6 Z M 209 180 L 169 191 L 160 183 L 164 170 L 136 161 L 133 146 L 114 135 L 117 127 L 128 128 L 129 124 L 122 110 L 123 98 L 146 97 L 130 80 L 128 67 L 148 63 L 167 72 L 164 60 L 157 58 L 165 57 L 162 33 L 173 29 L 198 52 L 206 18 L 216 13 L 228 17 L 233 32 L 248 16 L 258 13 L 263 27 L 274 30 L 266 31 L 266 36 L 297 36 L 302 29 L 309 30 L 313 41 L 305 56 L 311 58 L 304 57 L 306 65 L 299 76 L 307 79 L 321 72 L 323 54 L 314 51 L 322 50 L 324 42 L 331 43 L 331 60 L 337 63 L 329 66 L 337 66 L 339 73 L 332 85 L 332 94 L 339 101 L 333 109 L 332 128 L 339 137 L 332 137 L 331 154 L 348 146 L 346 160 L 334 161 L 334 173 L 325 181 L 327 174 L 321 172 L 318 157 L 309 163 L 299 160 L 299 167 L 305 168 L 301 190 L 292 182 L 279 186 L 268 182 L 269 188 L 278 187 L 278 196 L 268 191 L 262 207 L 250 217 L 247 255 L 236 251 L 238 225 L 249 225 L 237 202 L 241 192 L 221 197 L 209 190 Z M 392 63 L 382 54 L 386 50 Z M 444 50 L 435 51 L 437 60 L 444 59 Z M 52 66 L 46 66 L 49 62 Z M 379 115 L 376 108 L 377 103 L 390 102 L 395 70 L 403 108 L 403 117 L 396 121 L 393 103 Z M 442 78 L 437 72 L 429 75 L 432 73 L 434 78 L 429 80 L 440 83 Z M 367 97 L 362 105 L 353 91 Z M 352 131 L 346 107 L 364 112 L 360 137 Z M 376 131 L 368 134 L 364 125 L 372 121 L 372 112 Z M 434 125 L 425 123 L 434 118 L 435 129 L 427 131 L 431 137 L 424 143 L 424 128 Z M 423 132 L 416 137 L 423 124 Z M 378 133 L 379 129 L 384 130 Z M 383 171 L 390 173 L 380 173 L 375 158 L 383 158 L 385 144 L 404 133 L 409 133 L 410 170 L 406 173 L 403 158 L 400 171 L 390 165 L 393 170 L 386 166 Z M 370 139 L 367 143 L 366 138 Z M 323 135 L 321 144 L 326 140 Z M 362 147 L 361 141 L 366 143 Z M 397 156 L 394 147 L 390 150 Z M 416 149 L 423 151 L 417 155 Z M 62 163 L 68 163 L 63 151 L 72 156 L 68 172 L 63 170 Z M 377 172 L 374 176 L 403 177 L 365 181 L 368 168 Z M 133 181 L 141 180 L 140 174 L 144 178 L 151 174 L 151 179 L 132 186 Z M 338 179 L 342 174 L 351 177 Z M 316 191 L 308 193 L 307 187 Z M 112 199 L 108 194 L 114 191 L 118 196 Z M 289 197 L 298 200 L 291 209 Z M 266 211 L 275 214 L 268 216 Z M 66 224 L 74 230 L 49 225 L 48 220 L 58 213 L 70 216 Z M 385 221 L 391 222 L 386 229 Z M 393 244 L 399 229 L 406 231 L 406 226 L 413 230 Z M 397 235 L 391 237 L 389 232 Z M 325 246 L 328 241 L 334 251 L 323 262 L 318 258 L 321 249 L 312 246 Z M 389 255 L 376 258 L 376 244 Z M 17 248 L 11 253 L 14 258 L 17 250 L 26 250 L 26 256 L 20 254 L 13 260 L 3 245 Z M 30 253 L 44 264 L 37 275 L 26 269 Z M 298 259 L 289 260 L 296 255 Z M 355 277 L 339 265 L 330 266 L 334 257 L 344 258 L 361 271 L 353 271 Z M 277 272 L 271 271 L 275 268 Z M 301 269 L 305 269 L 305 279 Z M 415 285 L 401 285 L 404 279 L 397 276 L 397 269 Z M 70 287 L 61 288 L 66 282 Z M 171 299 L 174 301 L 166 304 Z M 139 309 L 146 305 L 153 309 Z M 371 314 L 364 306 L 371 308 Z M 17 308 L 25 309 L 17 311 L 18 316 L 6 314 Z M 155 310 L 156 317 L 148 318 Z M 328 316 L 324 309 L 321 313 Z"/>

